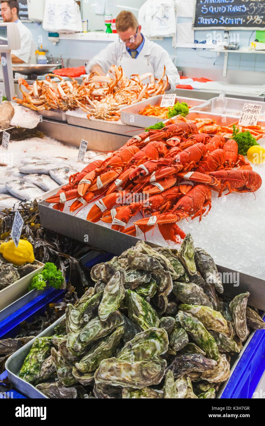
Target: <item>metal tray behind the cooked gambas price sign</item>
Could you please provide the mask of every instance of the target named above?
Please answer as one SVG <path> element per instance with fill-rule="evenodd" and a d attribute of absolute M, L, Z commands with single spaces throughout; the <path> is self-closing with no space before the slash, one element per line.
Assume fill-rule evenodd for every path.
<path fill-rule="evenodd" d="M 253 101 L 246 101 L 245 99 L 237 99 L 237 98 L 225 98 L 227 100 L 226 108 L 224 111 L 220 112 L 213 112 L 213 103 L 216 101 L 218 97 L 209 99 L 208 101 L 205 101 L 203 104 L 197 106 L 196 111 L 204 111 L 204 112 L 211 112 L 211 113 L 218 113 L 222 115 L 230 115 L 234 116 L 235 118 L 239 118 L 240 114 L 242 112 L 242 108 L 246 102 L 255 104 L 255 105 L 261 105 L 261 115 L 265 115 L 265 102 L 253 102 Z M 265 118 L 264 118 L 265 119 Z"/>

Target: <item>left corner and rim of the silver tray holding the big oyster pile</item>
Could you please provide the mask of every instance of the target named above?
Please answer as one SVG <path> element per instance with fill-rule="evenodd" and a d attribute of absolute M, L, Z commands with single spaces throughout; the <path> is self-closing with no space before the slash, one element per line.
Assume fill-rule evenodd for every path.
<path fill-rule="evenodd" d="M 48 328 L 46 328 L 46 330 L 38 334 L 38 336 L 20 348 L 17 352 L 12 354 L 11 357 L 9 357 L 9 359 L 6 361 L 6 371 L 10 383 L 14 385 L 14 389 L 21 392 L 28 398 L 48 399 L 48 397 L 46 397 L 46 395 L 44 395 L 42 392 L 38 391 L 34 385 L 26 382 L 26 380 L 20 379 L 18 374 L 21 367 L 23 366 L 23 362 L 28 355 L 28 352 L 31 350 L 31 347 L 37 337 L 52 336 L 54 334 L 54 328 L 59 324 L 62 318 L 63 317 L 59 318 L 57 321 L 51 324 Z"/>

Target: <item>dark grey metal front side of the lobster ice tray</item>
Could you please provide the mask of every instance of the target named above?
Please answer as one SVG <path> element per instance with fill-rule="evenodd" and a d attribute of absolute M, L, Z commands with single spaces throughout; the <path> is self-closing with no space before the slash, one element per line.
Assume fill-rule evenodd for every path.
<path fill-rule="evenodd" d="M 40 202 L 38 206 L 42 227 L 80 242 L 84 242 L 84 235 L 88 235 L 88 245 L 108 251 L 117 256 L 136 245 L 137 241 L 140 241 L 137 237 L 52 209 L 46 201 Z M 151 247 L 158 247 L 157 244 L 151 241 L 146 242 Z M 222 274 L 239 273 L 223 266 L 217 265 L 217 267 L 218 271 Z M 240 293 L 249 291 L 249 304 L 265 311 L 265 280 L 249 276 L 242 272 L 239 273 L 239 279 Z M 231 298 L 238 294 L 238 289 L 233 284 L 226 283 L 224 284 L 224 288 L 226 294 Z"/>

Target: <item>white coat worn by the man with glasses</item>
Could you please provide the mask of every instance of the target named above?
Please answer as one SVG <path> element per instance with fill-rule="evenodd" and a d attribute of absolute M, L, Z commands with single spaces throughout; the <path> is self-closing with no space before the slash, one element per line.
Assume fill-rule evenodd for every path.
<path fill-rule="evenodd" d="M 127 51 L 125 44 L 119 43 L 119 41 L 114 41 L 114 43 L 110 43 L 105 49 L 101 50 L 98 55 L 94 56 L 94 58 L 89 61 L 86 71 L 90 72 L 92 66 L 100 65 L 103 71 L 107 73 L 111 65 L 115 64 L 119 66 L 122 63 L 122 59 L 124 58 L 131 58 L 131 55 Z M 141 52 L 136 59 L 132 59 L 131 61 L 131 74 L 137 74 L 137 72 L 134 72 L 133 68 L 133 63 L 136 61 L 135 65 L 137 65 L 137 60 L 146 61 L 146 72 L 150 71 L 148 69 L 148 64 L 150 63 L 154 69 L 154 77 L 156 78 L 161 77 L 165 65 L 165 72 L 168 76 L 168 83 L 171 86 L 170 91 L 174 91 L 176 89 L 176 85 L 180 82 L 179 73 L 177 72 L 177 68 L 175 67 L 174 63 L 170 59 L 168 52 L 159 46 L 159 44 L 154 43 L 145 37 L 145 42 L 142 46 Z"/>

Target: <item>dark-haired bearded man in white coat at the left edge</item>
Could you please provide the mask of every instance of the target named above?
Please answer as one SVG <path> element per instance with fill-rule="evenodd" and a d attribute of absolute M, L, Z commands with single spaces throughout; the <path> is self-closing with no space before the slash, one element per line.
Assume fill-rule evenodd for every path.
<path fill-rule="evenodd" d="M 1 16 L 4 22 L 17 23 L 21 47 L 11 50 L 12 63 L 31 63 L 34 58 L 34 41 L 31 32 L 19 19 L 19 4 L 16 0 L 1 0 Z"/>

